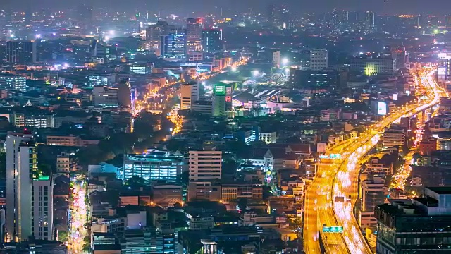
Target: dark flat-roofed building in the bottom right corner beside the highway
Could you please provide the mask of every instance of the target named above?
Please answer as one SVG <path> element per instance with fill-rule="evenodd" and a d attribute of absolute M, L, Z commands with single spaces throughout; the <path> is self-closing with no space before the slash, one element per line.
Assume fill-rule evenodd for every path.
<path fill-rule="evenodd" d="M 376 253 L 450 253 L 451 191 L 426 187 L 423 198 L 378 205 Z"/>

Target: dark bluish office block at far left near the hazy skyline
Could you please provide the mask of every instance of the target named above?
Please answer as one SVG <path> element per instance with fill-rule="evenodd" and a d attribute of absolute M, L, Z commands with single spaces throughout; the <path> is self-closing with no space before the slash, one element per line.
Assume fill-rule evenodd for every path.
<path fill-rule="evenodd" d="M 11 64 L 36 63 L 36 42 L 27 40 L 6 42 L 6 61 Z"/>

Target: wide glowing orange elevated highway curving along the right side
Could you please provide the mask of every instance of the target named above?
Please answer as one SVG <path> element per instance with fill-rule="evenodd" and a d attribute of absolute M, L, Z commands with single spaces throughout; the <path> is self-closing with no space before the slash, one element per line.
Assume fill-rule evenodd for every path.
<path fill-rule="evenodd" d="M 433 80 L 434 71 L 421 73 L 420 85 L 426 88 L 426 99 L 403 107 L 396 114 L 386 116 L 362 133 L 359 138 L 333 147 L 330 153 L 340 153 L 340 161 L 326 162 L 319 167 L 318 174 L 306 191 L 304 207 L 304 250 L 306 253 L 321 253 L 319 237 L 327 253 L 371 253 L 352 212 L 357 201 L 359 159 L 371 150 L 380 138 L 380 133 L 401 117 L 412 116 L 440 102 L 445 96 Z M 345 197 L 345 202 L 333 202 L 335 197 Z M 350 197 L 350 199 L 347 199 Z M 343 233 L 321 233 L 326 226 L 343 226 Z"/>

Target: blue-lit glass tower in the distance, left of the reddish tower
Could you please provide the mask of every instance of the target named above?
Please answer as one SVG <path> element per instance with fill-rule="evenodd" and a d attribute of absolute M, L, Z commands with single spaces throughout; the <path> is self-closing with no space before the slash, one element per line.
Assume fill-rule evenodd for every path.
<path fill-rule="evenodd" d="M 169 35 L 161 37 L 161 56 L 166 59 L 187 58 L 187 35 L 185 30 L 171 32 Z"/>

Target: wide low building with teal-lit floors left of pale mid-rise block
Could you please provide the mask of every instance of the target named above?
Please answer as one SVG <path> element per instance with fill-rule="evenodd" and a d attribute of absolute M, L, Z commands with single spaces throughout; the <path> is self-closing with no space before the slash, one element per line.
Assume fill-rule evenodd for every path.
<path fill-rule="evenodd" d="M 124 181 L 140 176 L 149 181 L 175 182 L 182 174 L 184 158 L 178 153 L 156 151 L 149 155 L 126 155 L 124 157 Z"/>

